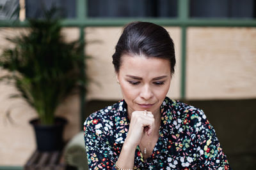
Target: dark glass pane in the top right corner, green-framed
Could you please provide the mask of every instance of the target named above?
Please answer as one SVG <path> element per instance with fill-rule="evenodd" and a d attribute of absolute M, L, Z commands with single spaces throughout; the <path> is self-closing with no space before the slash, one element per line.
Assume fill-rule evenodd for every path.
<path fill-rule="evenodd" d="M 255 0 L 191 0 L 190 17 L 255 18 Z"/>

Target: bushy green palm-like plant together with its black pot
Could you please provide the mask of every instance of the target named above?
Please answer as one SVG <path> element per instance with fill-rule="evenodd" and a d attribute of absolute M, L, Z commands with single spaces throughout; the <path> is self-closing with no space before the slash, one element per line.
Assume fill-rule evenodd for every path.
<path fill-rule="evenodd" d="M 83 43 L 64 41 L 60 20 L 52 18 L 54 13 L 49 10 L 40 20 L 28 20 L 29 32 L 9 38 L 15 47 L 4 49 L 0 57 L 0 66 L 10 72 L 0 80 L 13 80 L 9 82 L 14 83 L 19 94 L 12 97 L 22 97 L 38 113 L 38 119 L 31 120 L 31 124 L 35 127 L 37 148 L 41 151 L 61 149 L 66 120 L 56 118 L 54 113 L 76 87 L 85 83 L 81 73 Z M 39 139 L 38 131 L 51 134 L 43 132 L 43 138 Z M 47 143 L 50 146 L 44 146 Z"/>

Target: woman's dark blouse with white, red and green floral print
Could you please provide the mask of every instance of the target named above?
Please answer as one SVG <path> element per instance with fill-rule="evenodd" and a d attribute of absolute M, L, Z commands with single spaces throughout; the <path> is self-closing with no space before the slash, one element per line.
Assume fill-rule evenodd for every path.
<path fill-rule="evenodd" d="M 159 139 L 151 157 L 137 146 L 134 169 L 231 169 L 202 110 L 166 97 Z M 92 113 L 84 122 L 89 169 L 115 169 L 129 129 L 124 100 Z"/>

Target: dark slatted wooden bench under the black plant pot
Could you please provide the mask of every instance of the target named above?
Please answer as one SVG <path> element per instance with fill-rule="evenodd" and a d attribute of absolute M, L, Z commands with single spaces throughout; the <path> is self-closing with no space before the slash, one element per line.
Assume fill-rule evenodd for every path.
<path fill-rule="evenodd" d="M 37 150 L 31 155 L 24 166 L 25 170 L 65 170 L 66 164 L 63 160 L 62 153 L 55 152 L 38 152 Z"/>

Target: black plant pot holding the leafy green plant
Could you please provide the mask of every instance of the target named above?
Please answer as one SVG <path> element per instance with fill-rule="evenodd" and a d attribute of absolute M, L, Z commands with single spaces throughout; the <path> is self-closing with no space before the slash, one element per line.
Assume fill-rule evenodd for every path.
<path fill-rule="evenodd" d="M 67 120 L 65 118 L 55 118 L 54 125 L 41 125 L 40 120 L 31 120 L 36 135 L 36 146 L 40 152 L 52 152 L 61 150 L 64 146 L 63 129 Z"/>

